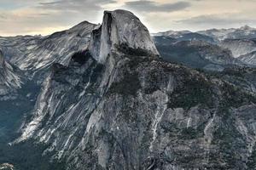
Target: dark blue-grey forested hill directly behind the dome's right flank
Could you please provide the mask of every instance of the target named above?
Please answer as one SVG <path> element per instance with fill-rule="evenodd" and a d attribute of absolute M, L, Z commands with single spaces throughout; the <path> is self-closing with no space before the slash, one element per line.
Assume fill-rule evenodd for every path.
<path fill-rule="evenodd" d="M 167 37 L 154 37 L 154 42 L 162 58 L 169 62 L 211 71 L 223 71 L 228 65 L 241 65 L 230 50 L 208 42 L 177 42 Z"/>

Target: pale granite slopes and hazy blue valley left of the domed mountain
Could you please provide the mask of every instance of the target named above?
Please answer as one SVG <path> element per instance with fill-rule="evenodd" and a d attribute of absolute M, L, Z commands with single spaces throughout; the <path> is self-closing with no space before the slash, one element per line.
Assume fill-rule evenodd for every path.
<path fill-rule="evenodd" d="M 1 93 L 4 92 L 0 94 L 0 164 L 12 162 L 18 169 L 57 169 L 55 164 L 49 164 L 49 156 L 42 157 L 44 144 L 33 146 L 26 142 L 9 146 L 8 143 L 17 138 L 18 129 L 32 112 L 50 66 L 68 65 L 75 52 L 87 48 L 94 28 L 96 25 L 85 21 L 47 37 L 0 37 L 4 55 L 0 68 Z M 61 169 L 59 164 L 56 166 Z"/>

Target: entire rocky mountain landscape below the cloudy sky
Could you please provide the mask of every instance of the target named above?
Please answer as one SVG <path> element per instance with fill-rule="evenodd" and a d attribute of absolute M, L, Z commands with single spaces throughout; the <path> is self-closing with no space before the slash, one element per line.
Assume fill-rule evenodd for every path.
<path fill-rule="evenodd" d="M 155 47 L 116 10 L 0 37 L 0 169 L 255 169 L 253 32 L 167 31 Z"/>

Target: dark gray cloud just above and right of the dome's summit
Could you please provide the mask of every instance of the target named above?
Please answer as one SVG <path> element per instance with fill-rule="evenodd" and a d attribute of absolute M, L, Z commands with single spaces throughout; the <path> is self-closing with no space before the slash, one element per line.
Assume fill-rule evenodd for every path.
<path fill-rule="evenodd" d="M 132 1 L 125 3 L 125 7 L 143 12 L 173 12 L 190 7 L 188 2 L 159 4 L 154 1 Z"/>

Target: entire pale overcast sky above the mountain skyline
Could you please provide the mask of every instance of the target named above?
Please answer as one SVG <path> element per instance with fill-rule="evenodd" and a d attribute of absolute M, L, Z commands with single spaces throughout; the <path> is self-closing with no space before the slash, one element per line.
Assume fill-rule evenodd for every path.
<path fill-rule="evenodd" d="M 256 0 L 0 0 L 0 36 L 47 35 L 104 10 L 131 10 L 149 31 L 256 27 Z"/>

